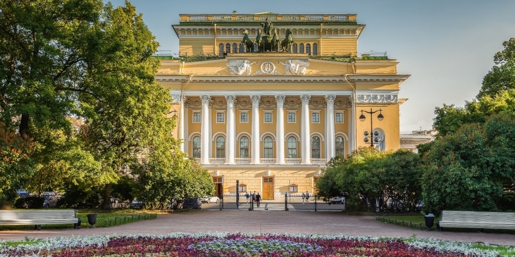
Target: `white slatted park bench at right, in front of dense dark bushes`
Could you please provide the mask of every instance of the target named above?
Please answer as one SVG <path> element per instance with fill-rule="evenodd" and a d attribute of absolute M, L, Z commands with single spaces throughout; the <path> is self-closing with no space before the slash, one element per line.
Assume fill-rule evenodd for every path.
<path fill-rule="evenodd" d="M 515 229 L 515 212 L 442 211 L 436 226 L 445 228 Z"/>

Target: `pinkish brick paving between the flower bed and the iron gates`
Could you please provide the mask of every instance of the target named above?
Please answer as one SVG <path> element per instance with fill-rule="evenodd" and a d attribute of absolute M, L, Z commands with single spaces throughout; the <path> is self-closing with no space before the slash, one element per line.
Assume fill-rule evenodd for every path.
<path fill-rule="evenodd" d="M 263 207 L 262 207 L 263 208 Z M 84 222 L 82 223 L 84 225 Z M 483 242 L 515 246 L 515 234 L 437 232 L 376 222 L 373 216 L 354 216 L 336 211 L 195 210 L 158 215 L 156 219 L 117 227 L 62 230 L 1 231 L 0 240 L 54 236 L 111 234 L 168 234 L 171 232 L 242 232 L 288 234 L 347 234 L 369 236 L 434 237 L 449 241 Z"/>

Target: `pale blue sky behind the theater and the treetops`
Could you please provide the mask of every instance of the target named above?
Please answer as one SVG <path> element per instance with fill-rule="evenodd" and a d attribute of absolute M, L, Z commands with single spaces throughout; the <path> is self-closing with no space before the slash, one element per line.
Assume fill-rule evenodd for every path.
<path fill-rule="evenodd" d="M 105 1 L 107 2 L 107 1 Z M 111 1 L 123 5 L 123 0 Z M 356 13 L 365 24 L 358 53 L 387 51 L 397 59 L 401 85 L 401 132 L 431 129 L 435 106 L 463 106 L 481 87 L 502 43 L 515 37 L 513 0 L 132 0 L 156 35 L 160 50 L 178 52 L 171 25 L 181 14 Z M 387 119 L 387 117 L 385 117 Z"/>

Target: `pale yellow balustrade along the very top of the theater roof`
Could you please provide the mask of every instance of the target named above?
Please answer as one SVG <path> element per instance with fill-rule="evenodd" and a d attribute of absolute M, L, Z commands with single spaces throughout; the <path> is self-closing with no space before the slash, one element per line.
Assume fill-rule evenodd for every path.
<path fill-rule="evenodd" d="M 356 22 L 356 14 L 180 14 L 181 22 L 216 22 L 216 21 L 331 21 Z"/>

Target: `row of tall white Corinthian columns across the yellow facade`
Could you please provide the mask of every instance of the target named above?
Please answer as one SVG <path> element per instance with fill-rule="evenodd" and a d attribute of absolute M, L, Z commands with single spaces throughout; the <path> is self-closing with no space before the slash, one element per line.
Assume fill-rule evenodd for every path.
<path fill-rule="evenodd" d="M 235 158 L 235 136 L 236 136 L 236 119 L 235 119 L 235 108 L 234 101 L 236 100 L 236 95 L 226 95 L 227 100 L 227 127 L 226 127 L 226 142 L 227 142 L 227 152 L 226 152 L 226 163 L 234 164 Z M 209 136 L 209 127 L 211 124 L 211 119 L 209 115 L 209 103 L 211 101 L 210 95 L 201 95 L 200 99 L 202 101 L 202 112 L 201 112 L 201 141 L 200 141 L 200 163 L 201 164 L 210 164 L 209 162 L 209 151 L 210 151 L 210 136 Z M 251 129 L 251 145 L 252 145 L 252 155 L 251 162 L 252 164 L 260 163 L 260 115 L 259 115 L 259 102 L 261 100 L 260 95 L 251 95 L 250 99 L 252 101 L 252 129 Z M 284 101 L 286 99 L 285 95 L 276 95 L 275 96 L 277 103 L 277 127 L 276 127 L 276 163 L 284 164 L 286 163 L 284 160 Z M 300 100 L 302 102 L 301 106 L 301 132 L 300 132 L 300 142 L 301 142 L 301 159 L 302 164 L 311 164 L 311 140 L 310 140 L 310 103 L 311 95 L 301 95 Z M 326 119 L 327 122 L 327 131 L 325 132 L 325 143 L 327 145 L 327 158 L 333 158 L 336 156 L 335 150 L 335 120 L 334 120 L 334 101 L 336 99 L 336 95 L 325 95 L 325 100 L 327 101 L 327 112 Z M 184 115 L 184 110 L 181 108 L 181 114 Z M 181 116 L 184 117 L 184 116 Z M 181 124 L 183 125 L 184 119 L 181 119 Z M 184 126 L 182 126 L 184 127 Z M 181 139 L 183 138 L 184 133 L 181 133 Z"/>

